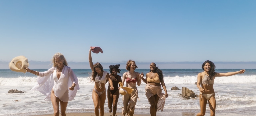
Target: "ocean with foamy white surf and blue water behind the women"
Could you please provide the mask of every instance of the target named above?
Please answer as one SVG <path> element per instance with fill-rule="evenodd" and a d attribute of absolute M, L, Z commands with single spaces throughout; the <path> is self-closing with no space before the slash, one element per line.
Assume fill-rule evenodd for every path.
<path fill-rule="evenodd" d="M 33 69 L 35 71 L 46 71 L 47 69 Z M 106 71 L 108 71 L 107 69 Z M 170 112 L 194 112 L 200 111 L 199 98 L 188 100 L 181 97 L 181 90 L 171 90 L 172 87 L 187 87 L 199 95 L 196 87 L 197 74 L 202 69 L 161 69 L 164 74 L 168 98 L 166 98 L 164 111 L 158 111 L 159 116 L 169 116 Z M 216 72 L 234 72 L 240 69 L 216 69 Z M 74 100 L 69 101 L 66 112 L 94 112 L 91 98 L 94 83 L 89 82 L 90 69 L 73 69 L 80 90 Z M 136 69 L 144 73 L 144 78 L 149 69 Z M 108 71 L 109 72 L 109 71 Z M 121 69 L 122 77 L 125 69 Z M 36 84 L 37 77 L 31 73 L 18 73 L 10 69 L 0 69 L 0 116 L 29 116 L 38 114 L 52 114 L 51 101 L 44 101 L 45 96 L 38 91 L 30 91 Z M 108 84 L 106 84 L 106 87 Z M 138 88 L 140 100 L 135 106 L 135 113 L 149 113 L 150 104 L 145 96 L 145 83 L 142 82 Z M 10 89 L 17 89 L 24 93 L 8 93 Z M 246 69 L 244 74 L 229 77 L 217 77 L 214 81 L 216 94 L 216 115 L 221 112 L 254 115 L 256 109 L 256 69 Z M 164 93 L 164 91 L 163 91 Z M 122 95 L 117 105 L 117 112 L 121 112 Z M 105 102 L 105 113 L 108 112 L 107 100 Z M 209 105 L 206 107 L 206 116 L 209 115 Z"/>

